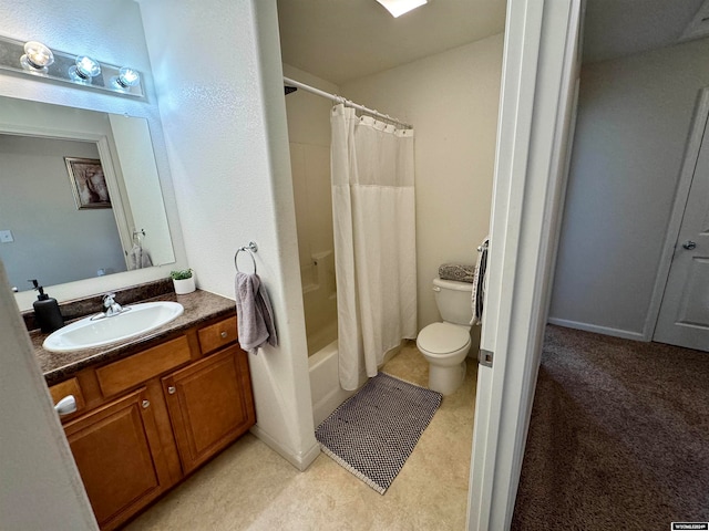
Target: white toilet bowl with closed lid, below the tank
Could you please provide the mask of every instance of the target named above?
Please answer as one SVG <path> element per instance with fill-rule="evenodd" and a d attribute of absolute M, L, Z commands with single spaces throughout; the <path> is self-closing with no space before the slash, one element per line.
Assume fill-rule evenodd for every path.
<path fill-rule="evenodd" d="M 432 323 L 419 332 L 417 347 L 429 362 L 430 389 L 450 395 L 463 383 L 470 346 L 470 326 Z"/>

